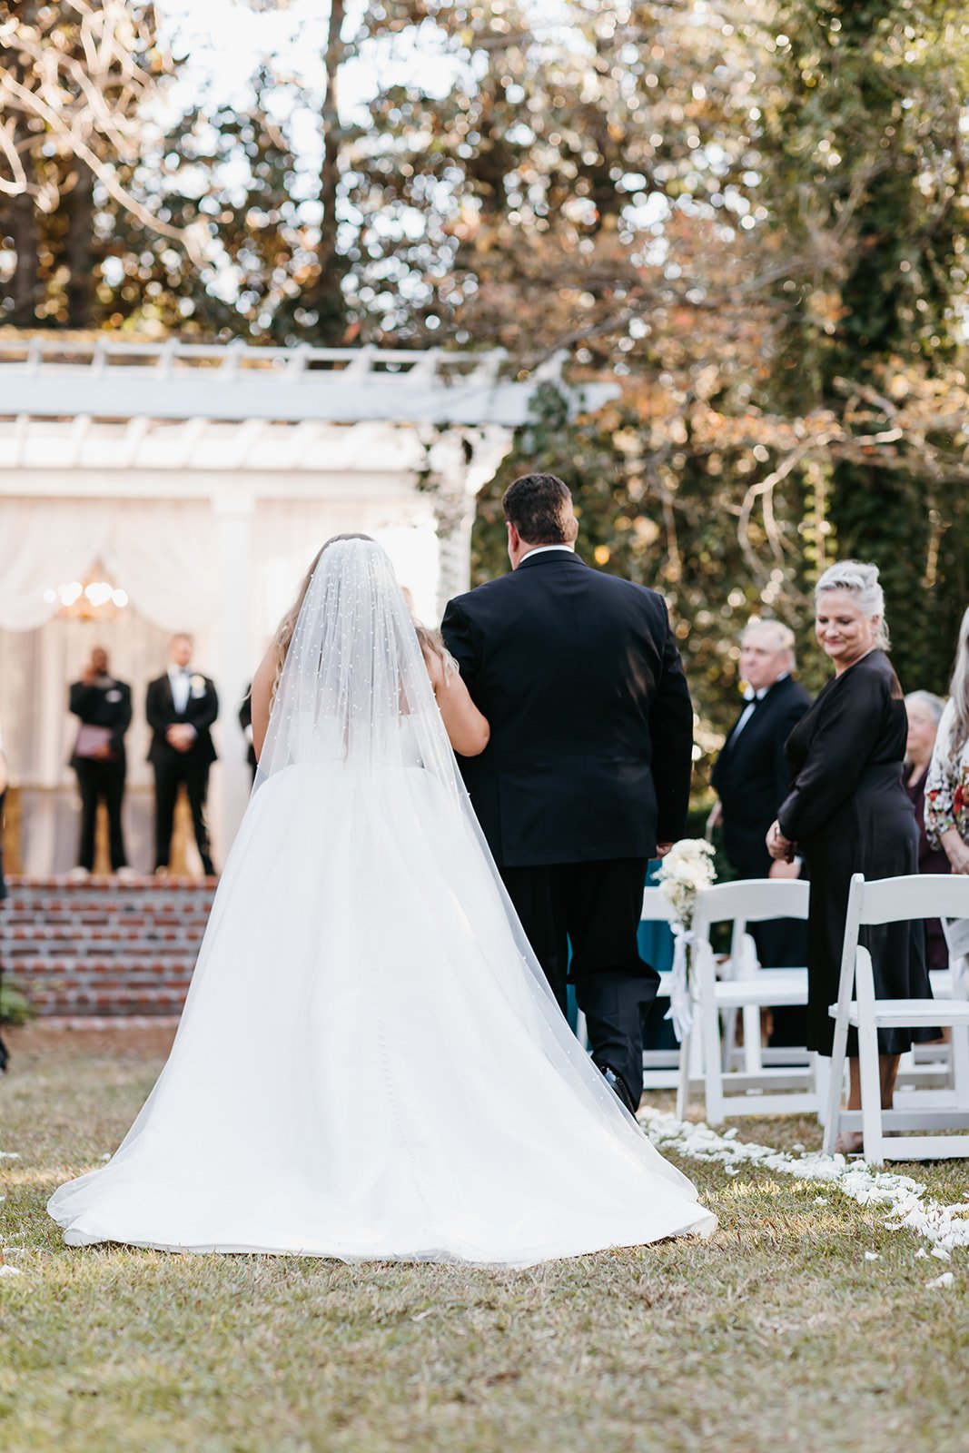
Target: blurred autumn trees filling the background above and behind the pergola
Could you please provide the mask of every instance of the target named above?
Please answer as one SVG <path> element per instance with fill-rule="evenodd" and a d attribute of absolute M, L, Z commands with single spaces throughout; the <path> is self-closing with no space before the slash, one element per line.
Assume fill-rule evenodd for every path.
<path fill-rule="evenodd" d="M 540 394 L 479 577 L 501 488 L 548 468 L 590 558 L 665 593 L 702 744 L 751 612 L 821 680 L 835 556 L 876 561 L 902 684 L 943 690 L 969 596 L 962 7 L 333 0 L 305 25 L 240 102 L 186 86 L 150 4 L 0 0 L 0 323 L 498 344 L 511 372 L 568 350 L 622 395 L 569 420 Z"/>

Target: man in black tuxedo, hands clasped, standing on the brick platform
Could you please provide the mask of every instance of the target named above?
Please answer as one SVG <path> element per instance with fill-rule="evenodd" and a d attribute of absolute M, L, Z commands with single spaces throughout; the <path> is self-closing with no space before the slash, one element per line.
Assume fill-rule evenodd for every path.
<path fill-rule="evenodd" d="M 179 785 L 185 782 L 192 808 L 195 841 L 206 878 L 212 866 L 205 799 L 215 747 L 209 728 L 219 712 L 215 686 L 208 676 L 190 671 L 193 642 L 189 635 L 171 638 L 169 670 L 148 683 L 145 715 L 151 726 L 148 761 L 155 769 L 155 873 L 169 870 L 171 824 Z"/>

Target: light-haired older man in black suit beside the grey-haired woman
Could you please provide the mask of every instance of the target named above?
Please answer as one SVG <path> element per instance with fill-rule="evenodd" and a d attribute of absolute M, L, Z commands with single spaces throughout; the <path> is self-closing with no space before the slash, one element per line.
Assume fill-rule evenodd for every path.
<path fill-rule="evenodd" d="M 784 744 L 811 705 L 795 668 L 795 636 L 780 620 L 748 622 L 741 638 L 744 706 L 713 767 L 719 804 L 709 825 L 723 830 L 723 851 L 739 878 L 798 878 L 800 863 L 771 862 L 764 838 L 790 790 Z M 787 918 L 751 924 L 761 963 L 808 962 L 805 924 Z M 803 1010 L 776 1008 L 771 1043 L 803 1043 Z"/>

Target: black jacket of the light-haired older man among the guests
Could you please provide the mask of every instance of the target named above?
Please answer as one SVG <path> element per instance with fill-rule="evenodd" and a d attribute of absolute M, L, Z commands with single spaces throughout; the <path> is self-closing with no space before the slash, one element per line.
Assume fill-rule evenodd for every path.
<path fill-rule="evenodd" d="M 809 706 L 793 677 L 774 681 L 735 738 L 738 715 L 716 758 L 712 782 L 723 806 L 723 851 L 742 878 L 763 878 L 770 869 L 764 838 L 790 790 L 784 742 Z"/>

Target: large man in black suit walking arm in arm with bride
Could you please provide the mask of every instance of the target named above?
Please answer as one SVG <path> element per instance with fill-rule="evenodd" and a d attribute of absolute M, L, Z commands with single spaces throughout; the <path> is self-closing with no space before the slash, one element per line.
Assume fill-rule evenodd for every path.
<path fill-rule="evenodd" d="M 491 724 L 461 770 L 562 1010 L 571 940 L 593 1058 L 635 1110 L 639 1011 L 658 984 L 636 928 L 646 862 L 686 824 L 690 693 L 662 597 L 575 554 L 562 481 L 524 475 L 503 503 L 511 574 L 452 600 L 443 620 Z"/>

